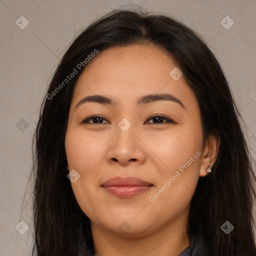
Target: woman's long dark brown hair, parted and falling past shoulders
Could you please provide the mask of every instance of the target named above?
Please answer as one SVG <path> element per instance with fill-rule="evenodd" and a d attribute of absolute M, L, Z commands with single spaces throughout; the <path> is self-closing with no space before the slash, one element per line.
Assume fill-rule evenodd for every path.
<path fill-rule="evenodd" d="M 249 153 L 225 75 L 196 32 L 172 17 L 141 10 L 112 10 L 71 42 L 49 83 L 33 136 L 32 255 L 78 256 L 93 251 L 90 220 L 82 212 L 67 178 L 65 132 L 72 92 L 81 71 L 77 64 L 111 46 L 152 43 L 169 54 L 194 91 L 200 107 L 203 141 L 214 131 L 220 147 L 212 171 L 199 177 L 187 225 L 193 236 L 208 237 L 212 256 L 255 256 L 253 203 L 256 197 Z M 95 56 L 96 57 L 96 56 Z M 78 73 L 63 85 L 66 75 Z M 56 90 L 56 87 L 61 89 Z M 52 93 L 55 91 L 55 93 Z M 54 95 L 53 95 L 54 94 Z M 226 234 L 228 220 L 234 229 Z M 36 253 L 36 254 L 34 254 Z"/>

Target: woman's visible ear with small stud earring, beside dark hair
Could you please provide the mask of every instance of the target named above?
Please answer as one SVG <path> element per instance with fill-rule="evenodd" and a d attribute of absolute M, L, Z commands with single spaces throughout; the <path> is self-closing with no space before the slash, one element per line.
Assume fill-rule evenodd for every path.
<path fill-rule="evenodd" d="M 202 162 L 200 167 L 200 176 L 207 175 L 206 169 L 208 166 L 212 168 L 214 162 L 217 159 L 218 150 L 220 145 L 219 132 L 211 133 L 206 139 L 205 145 L 202 150 Z"/>

